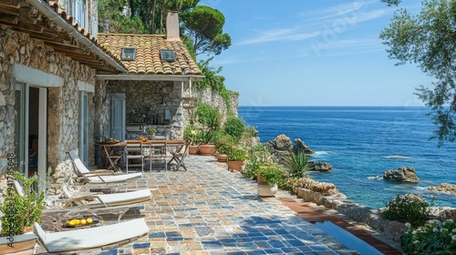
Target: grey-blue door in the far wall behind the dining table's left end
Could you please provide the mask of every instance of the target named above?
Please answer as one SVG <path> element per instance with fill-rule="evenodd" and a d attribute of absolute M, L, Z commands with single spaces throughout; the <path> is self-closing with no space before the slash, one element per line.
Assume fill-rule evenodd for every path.
<path fill-rule="evenodd" d="M 125 140 L 125 94 L 110 95 L 110 118 L 109 138 Z"/>

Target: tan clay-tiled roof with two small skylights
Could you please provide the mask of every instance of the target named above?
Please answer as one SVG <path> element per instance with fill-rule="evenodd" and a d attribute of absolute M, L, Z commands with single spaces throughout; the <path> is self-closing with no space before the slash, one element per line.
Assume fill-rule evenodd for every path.
<path fill-rule="evenodd" d="M 123 47 L 135 47 L 136 59 L 121 61 L 130 74 L 201 76 L 187 48 L 180 40 L 168 41 L 161 35 L 98 34 L 98 43 L 111 55 L 120 58 Z M 176 60 L 161 60 L 160 50 L 174 50 Z"/>

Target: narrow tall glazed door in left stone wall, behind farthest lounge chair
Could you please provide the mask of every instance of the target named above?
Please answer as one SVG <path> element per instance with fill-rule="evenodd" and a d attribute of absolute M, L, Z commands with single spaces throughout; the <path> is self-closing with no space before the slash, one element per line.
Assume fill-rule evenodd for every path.
<path fill-rule="evenodd" d="M 88 94 L 79 97 L 79 158 L 88 166 Z"/>

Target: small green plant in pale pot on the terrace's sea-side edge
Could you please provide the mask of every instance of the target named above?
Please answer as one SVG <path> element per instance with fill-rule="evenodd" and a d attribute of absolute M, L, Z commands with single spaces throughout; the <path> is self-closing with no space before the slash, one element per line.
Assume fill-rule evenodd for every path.
<path fill-rule="evenodd" d="M 278 166 L 264 166 L 256 170 L 257 191 L 260 197 L 273 197 L 278 189 L 277 184 L 283 180 L 282 171 Z"/>

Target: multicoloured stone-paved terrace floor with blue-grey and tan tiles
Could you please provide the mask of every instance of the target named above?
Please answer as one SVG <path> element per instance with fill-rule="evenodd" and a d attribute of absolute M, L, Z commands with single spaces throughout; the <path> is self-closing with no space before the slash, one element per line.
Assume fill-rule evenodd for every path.
<path fill-rule="evenodd" d="M 202 156 L 185 160 L 186 172 L 145 172 L 130 184 L 152 190 L 152 200 L 140 210 L 149 235 L 78 254 L 358 254 L 279 199 L 260 199 L 254 180 L 228 171 L 226 164 Z M 138 214 L 122 220 L 131 217 Z"/>

